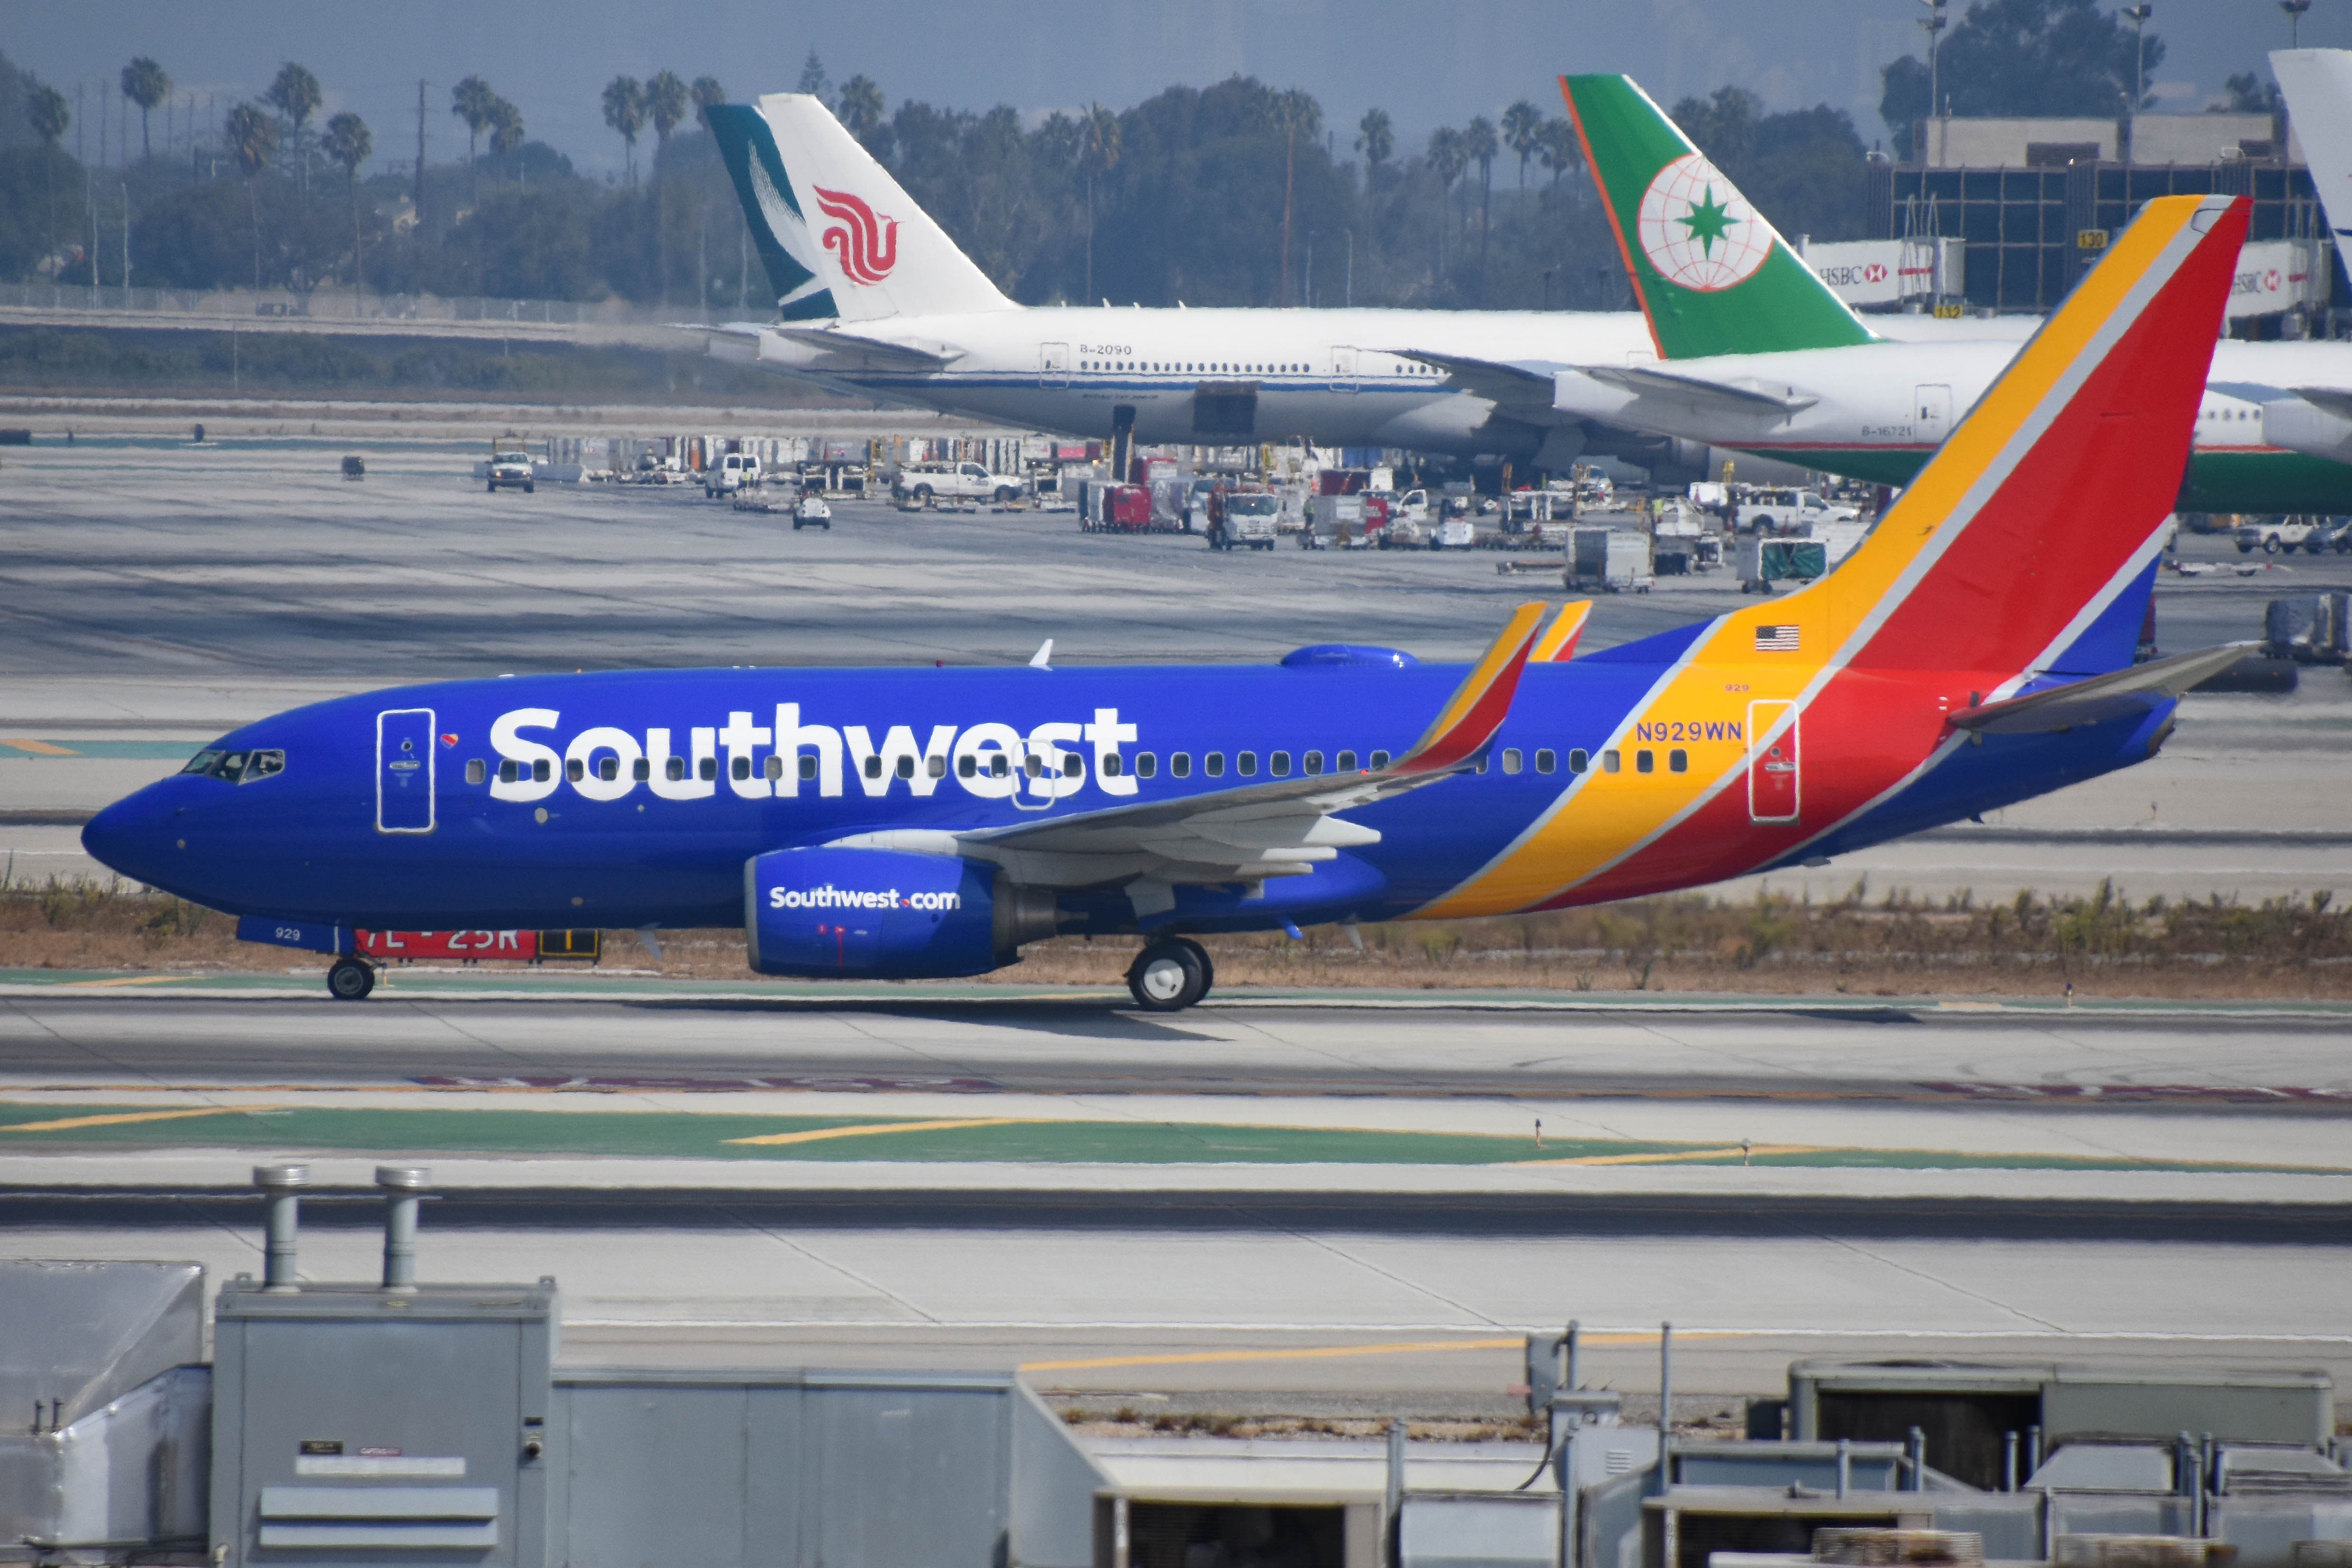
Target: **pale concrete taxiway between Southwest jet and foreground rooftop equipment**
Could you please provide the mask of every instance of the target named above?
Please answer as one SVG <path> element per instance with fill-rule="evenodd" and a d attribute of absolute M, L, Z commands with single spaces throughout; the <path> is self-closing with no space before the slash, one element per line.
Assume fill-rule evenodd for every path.
<path fill-rule="evenodd" d="M 2352 1077 L 2326 1009 L 1296 999 L 1148 1020 L 1047 997 L 28 990 L 0 1001 L 9 1255 L 252 1269 L 245 1173 L 303 1157 L 325 1187 L 306 1272 L 365 1276 L 369 1161 L 421 1159 L 447 1190 L 428 1272 L 557 1274 L 576 1359 L 1503 1408 L 1515 1335 L 1578 1316 L 1630 1389 L 1653 1387 L 1658 1319 L 1689 1331 L 1693 1392 L 1766 1392 L 1825 1349 L 2352 1375 L 2331 1305 Z M 557 1121 L 628 1143 L 647 1119 L 703 1145 L 546 1152 Z M 1359 1143 L 1279 1145 L 1331 1133 Z M 1056 1135 L 1094 1143 L 1061 1157 Z M 1602 1147 L 1632 1154 L 1583 1154 Z"/>

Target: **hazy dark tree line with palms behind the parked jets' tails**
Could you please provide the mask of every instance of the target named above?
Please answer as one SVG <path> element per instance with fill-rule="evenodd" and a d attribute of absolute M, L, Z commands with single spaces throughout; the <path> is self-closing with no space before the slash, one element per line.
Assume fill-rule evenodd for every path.
<path fill-rule="evenodd" d="M 2150 68 L 2164 59 L 2159 38 L 2091 0 L 1978 0 L 1933 42 L 1933 66 L 1884 68 L 1898 148 L 1931 75 L 1957 113 L 2096 113 L 2119 89 L 2129 99 L 2140 49 Z M 1628 303 L 1576 136 L 1526 99 L 1399 146 L 1381 108 L 1329 125 L 1310 94 L 1242 75 L 1035 125 L 1009 106 L 891 110 L 880 82 L 835 87 L 814 52 L 800 89 L 1025 303 Z M 379 132 L 350 113 L 320 122 L 325 87 L 299 63 L 219 127 L 155 153 L 146 113 L 169 92 L 162 63 L 129 61 L 122 94 L 141 108 L 143 155 L 85 169 L 64 148 L 68 99 L 0 56 L 0 120 L 14 120 L 0 125 L 0 277 L 120 284 L 127 226 L 129 282 L 148 287 L 771 306 L 701 120 L 727 101 L 713 75 L 661 68 L 600 89 L 623 153 L 612 179 L 534 141 L 482 75 L 445 106 L 466 158 L 421 174 L 362 174 Z M 2232 96 L 2258 96 L 2256 82 L 2232 82 Z M 1724 87 L 1670 113 L 1783 233 L 1870 233 L 1870 148 L 1844 110 L 1773 113 Z"/>

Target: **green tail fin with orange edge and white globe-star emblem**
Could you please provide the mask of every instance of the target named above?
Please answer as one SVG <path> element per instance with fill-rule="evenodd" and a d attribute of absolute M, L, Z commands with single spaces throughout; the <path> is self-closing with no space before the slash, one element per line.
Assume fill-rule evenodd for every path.
<path fill-rule="evenodd" d="M 1632 78 L 1564 75 L 1559 96 L 1661 357 L 1875 341 Z"/>

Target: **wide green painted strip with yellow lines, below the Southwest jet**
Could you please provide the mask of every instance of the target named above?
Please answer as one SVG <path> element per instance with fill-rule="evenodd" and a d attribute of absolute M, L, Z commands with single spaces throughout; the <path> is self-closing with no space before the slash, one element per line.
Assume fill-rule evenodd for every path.
<path fill-rule="evenodd" d="M 24 1128 L 24 1131 L 12 1131 Z M 844 1135 L 847 1131 L 847 1135 Z M 793 1138 L 790 1143 L 741 1143 Z M 993 1161 L 993 1164 L 1369 1164 L 1369 1166 L 1736 1166 L 1722 1143 L 1639 1143 L 1221 1121 L 1033 1121 L 920 1117 L 760 1117 L 743 1112 L 532 1112 L 405 1107 L 207 1107 L 0 1103 L 0 1154 L 54 1147 L 268 1147 L 315 1152 L 470 1152 L 635 1159 Z M 1757 1166 L 1900 1171 L 2239 1171 L 2345 1173 L 2338 1166 L 1957 1154 L 1947 1150 L 1757 1147 Z"/>

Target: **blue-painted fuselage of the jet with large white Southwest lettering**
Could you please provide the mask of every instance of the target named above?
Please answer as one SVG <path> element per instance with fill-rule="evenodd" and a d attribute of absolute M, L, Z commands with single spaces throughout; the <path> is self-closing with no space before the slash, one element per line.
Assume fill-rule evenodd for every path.
<path fill-rule="evenodd" d="M 1686 637 L 1684 637 L 1686 642 Z M 1738 724 L 1644 705 L 1672 661 L 1616 649 L 1531 665 L 1482 771 L 1348 811 L 1376 830 L 1310 875 L 1188 886 L 1160 924 L 1395 919 L 1576 811 L 1604 748 L 1646 788 L 1738 776 Z M 1672 649 L 1668 649 L 1670 654 Z M 127 877 L 235 914 L 358 929 L 734 926 L 746 860 L 884 830 L 983 830 L 1343 773 L 1404 755 L 1458 665 L 1091 670 L 656 670 L 405 686 L 249 724 L 207 752 L 282 766 L 183 773 L 99 813 L 85 844 Z M 1891 691 L 1891 701 L 1900 696 Z M 1835 853 L 2138 762 L 2171 703 L 2074 733 L 1886 757 L 1809 733 Z M 779 736 L 779 731 L 786 731 Z M 1656 745 L 1649 745 L 1656 741 Z M 1649 759 L 1656 755 L 1656 764 Z M 1839 771 L 1926 764 L 1839 813 Z M 1670 771 L 1672 769 L 1672 771 Z M 1573 820 L 1566 816 L 1564 820 Z M 1733 835 L 1736 839 L 1736 835 Z M 1658 886 L 1788 860 L 1698 844 Z M 1613 896 L 1613 893 L 1611 893 Z M 1068 931 L 1134 931 L 1120 886 L 1065 889 Z M 1576 903 L 1573 893 L 1552 903 Z M 1141 924 L 1152 924 L 1145 919 Z"/>

